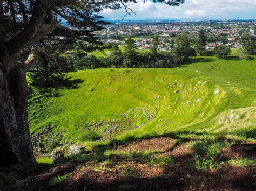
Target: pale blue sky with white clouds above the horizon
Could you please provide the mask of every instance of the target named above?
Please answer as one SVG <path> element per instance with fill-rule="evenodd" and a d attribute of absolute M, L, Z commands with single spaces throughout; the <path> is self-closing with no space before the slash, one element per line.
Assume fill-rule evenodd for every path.
<path fill-rule="evenodd" d="M 178 7 L 150 1 L 128 3 L 136 13 L 125 19 L 256 19 L 256 0 L 185 0 Z M 120 20 L 124 9 L 103 10 L 100 15 L 106 20 Z"/>

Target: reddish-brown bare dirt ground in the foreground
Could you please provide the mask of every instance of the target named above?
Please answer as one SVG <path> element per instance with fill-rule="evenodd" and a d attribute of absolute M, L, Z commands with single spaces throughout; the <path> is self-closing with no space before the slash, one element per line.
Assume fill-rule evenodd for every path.
<path fill-rule="evenodd" d="M 245 146 L 255 147 L 255 143 L 235 144 L 223 151 L 220 159 L 224 161 L 235 156 L 255 158 L 256 148 L 240 150 Z M 18 180 L 27 179 L 20 190 L 256 190 L 256 167 L 223 163 L 217 169 L 198 171 L 187 162 L 193 158 L 193 150 L 187 147 L 186 142 L 175 143 L 172 138 L 163 137 L 116 148 L 117 151 L 149 149 L 159 151 L 160 156 L 171 155 L 175 165 L 149 165 L 144 161 L 124 160 L 112 155 L 110 164 L 74 161 L 62 165 L 5 168 L 0 171 L 1 190 L 10 190 L 12 182 L 8 181 L 11 181 L 11 174 L 15 174 Z M 65 180 L 57 185 L 51 183 L 53 177 L 64 174 L 67 175 Z"/>

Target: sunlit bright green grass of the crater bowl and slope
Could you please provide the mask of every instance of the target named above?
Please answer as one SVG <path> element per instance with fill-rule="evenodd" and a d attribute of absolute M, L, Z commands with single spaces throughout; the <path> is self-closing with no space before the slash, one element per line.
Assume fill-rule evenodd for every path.
<path fill-rule="evenodd" d="M 56 125 L 54 131 L 66 130 L 62 138 L 72 142 L 87 140 L 91 132 L 122 138 L 177 130 L 246 130 L 255 138 L 255 74 L 255 61 L 207 56 L 179 68 L 80 70 L 67 74 L 83 81 L 79 88 L 61 89 L 59 97 L 48 98 L 34 92 L 29 101 L 30 130 Z M 231 114 L 232 121 L 226 122 Z M 154 117 L 148 120 L 150 115 Z M 99 128 L 88 126 L 101 121 L 105 124 Z M 119 128 L 107 133 L 111 125 Z"/>

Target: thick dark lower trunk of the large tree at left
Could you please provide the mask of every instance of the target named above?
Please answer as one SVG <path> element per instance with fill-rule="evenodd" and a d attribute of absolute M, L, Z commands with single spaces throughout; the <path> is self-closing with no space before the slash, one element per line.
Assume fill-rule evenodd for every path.
<path fill-rule="evenodd" d="M 30 142 L 26 74 L 17 53 L 0 49 L 0 166 L 35 163 Z"/>

